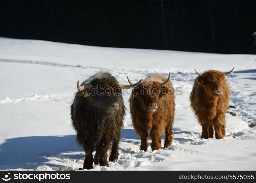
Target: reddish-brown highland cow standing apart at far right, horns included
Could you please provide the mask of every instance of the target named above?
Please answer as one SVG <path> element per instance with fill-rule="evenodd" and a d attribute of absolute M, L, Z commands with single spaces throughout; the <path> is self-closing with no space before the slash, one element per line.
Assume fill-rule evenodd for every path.
<path fill-rule="evenodd" d="M 231 93 L 225 76 L 233 69 L 225 74 L 215 70 L 199 74 L 195 70 L 199 76 L 194 81 L 190 103 L 203 128 L 201 138 L 213 138 L 214 130 L 216 138 L 225 137 L 225 114 L 229 108 Z"/>

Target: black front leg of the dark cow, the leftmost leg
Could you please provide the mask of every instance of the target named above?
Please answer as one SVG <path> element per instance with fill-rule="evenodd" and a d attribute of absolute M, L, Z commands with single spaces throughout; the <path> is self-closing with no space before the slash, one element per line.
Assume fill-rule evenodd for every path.
<path fill-rule="evenodd" d="M 85 144 L 84 144 L 84 150 L 85 150 L 84 169 L 92 169 L 93 149 L 94 149 L 93 144 L 89 141 L 86 141 Z"/>

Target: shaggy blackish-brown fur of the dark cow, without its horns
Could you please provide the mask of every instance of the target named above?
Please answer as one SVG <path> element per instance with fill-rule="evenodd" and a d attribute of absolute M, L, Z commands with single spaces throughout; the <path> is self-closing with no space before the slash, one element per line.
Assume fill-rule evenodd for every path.
<path fill-rule="evenodd" d="M 96 73 L 94 77 L 89 78 L 92 86 L 100 85 L 102 87 L 118 87 L 116 79 L 108 73 Z M 83 82 L 88 83 L 88 81 Z M 89 94 L 89 89 L 86 90 Z M 86 92 L 84 91 L 84 92 Z M 77 142 L 84 147 L 85 160 L 84 169 L 91 169 L 94 164 L 108 166 L 107 151 L 111 153 L 109 161 L 117 161 L 118 147 L 120 141 L 120 131 L 123 126 L 125 116 L 125 105 L 121 94 L 119 95 L 95 95 L 84 97 L 81 92 L 77 92 L 74 102 L 71 105 L 71 119 L 77 132 Z M 117 102 L 119 109 L 114 110 L 112 104 Z M 93 159 L 94 146 L 96 155 Z"/>

